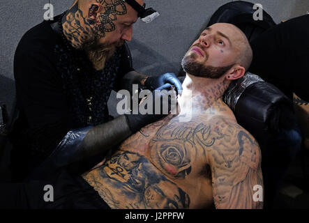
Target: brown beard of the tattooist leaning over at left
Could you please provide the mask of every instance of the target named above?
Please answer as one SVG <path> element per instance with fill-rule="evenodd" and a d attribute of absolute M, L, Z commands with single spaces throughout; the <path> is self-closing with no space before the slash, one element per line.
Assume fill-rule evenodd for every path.
<path fill-rule="evenodd" d="M 108 61 L 115 53 L 117 47 L 121 47 L 124 41 L 112 44 L 102 44 L 97 38 L 88 40 L 83 44 L 82 49 L 86 52 L 89 60 L 96 70 L 103 70 L 106 61 Z"/>

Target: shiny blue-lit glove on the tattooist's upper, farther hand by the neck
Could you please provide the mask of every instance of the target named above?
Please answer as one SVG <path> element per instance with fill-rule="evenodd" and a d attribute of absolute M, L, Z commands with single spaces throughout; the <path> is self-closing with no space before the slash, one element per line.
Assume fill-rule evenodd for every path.
<path fill-rule="evenodd" d="M 172 84 L 175 86 L 176 93 L 181 94 L 182 86 L 179 79 L 172 72 L 167 72 L 164 75 L 160 75 L 159 77 L 151 76 L 146 79 L 144 86 L 147 89 L 153 91 L 154 89 L 160 88 L 164 84 Z"/>

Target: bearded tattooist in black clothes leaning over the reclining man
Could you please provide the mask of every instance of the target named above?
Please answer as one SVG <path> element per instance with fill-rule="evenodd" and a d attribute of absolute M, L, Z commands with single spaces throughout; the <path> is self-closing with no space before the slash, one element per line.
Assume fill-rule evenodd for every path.
<path fill-rule="evenodd" d="M 133 84 L 151 91 L 172 85 L 182 90 L 174 74 L 147 77 L 128 59 L 125 42 L 132 38 L 133 24 L 138 17 L 151 22 L 156 16 L 143 0 L 75 0 L 54 21 L 27 31 L 14 61 L 19 116 L 10 134 L 13 182 L 24 180 L 60 151 L 50 169 L 70 166 L 83 172 L 144 125 L 165 116 L 113 119 L 107 109 L 112 90 L 132 91 Z"/>

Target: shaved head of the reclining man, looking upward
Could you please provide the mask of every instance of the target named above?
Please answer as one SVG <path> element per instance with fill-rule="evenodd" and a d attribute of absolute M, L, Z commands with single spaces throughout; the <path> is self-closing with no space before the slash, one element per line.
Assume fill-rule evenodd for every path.
<path fill-rule="evenodd" d="M 196 77 L 242 77 L 253 51 L 246 35 L 233 24 L 216 23 L 202 31 L 181 61 L 186 73 Z"/>

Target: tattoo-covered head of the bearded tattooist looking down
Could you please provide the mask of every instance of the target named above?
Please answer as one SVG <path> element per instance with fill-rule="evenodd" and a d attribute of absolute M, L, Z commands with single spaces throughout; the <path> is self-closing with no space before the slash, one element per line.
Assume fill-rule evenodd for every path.
<path fill-rule="evenodd" d="M 61 22 L 69 43 L 86 52 L 93 68 L 103 70 L 116 49 L 132 39 L 137 15 L 122 0 L 75 0 Z"/>

